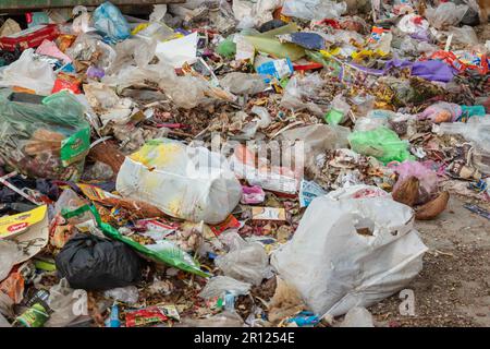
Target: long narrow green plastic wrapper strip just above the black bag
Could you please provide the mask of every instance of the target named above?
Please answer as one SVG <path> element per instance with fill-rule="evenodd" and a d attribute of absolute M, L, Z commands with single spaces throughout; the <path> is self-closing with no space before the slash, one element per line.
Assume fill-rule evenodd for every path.
<path fill-rule="evenodd" d="M 124 242 L 125 244 L 130 245 L 131 248 L 133 248 L 144 256 L 148 257 L 149 260 L 159 263 L 164 263 L 177 269 L 196 274 L 203 277 L 211 276 L 203 272 L 199 268 L 199 263 L 195 261 L 188 253 L 182 251 L 171 242 L 166 244 L 163 243 L 158 244 L 159 246 L 158 250 L 157 249 L 150 250 L 147 246 L 134 241 L 133 239 L 122 236 L 118 231 L 118 229 L 102 221 L 99 213 L 97 212 L 97 208 L 94 205 L 84 205 L 73 210 L 63 209 L 61 212 L 61 215 L 63 216 L 63 218 L 70 219 L 72 217 L 83 215 L 86 212 L 90 212 L 93 214 L 97 222 L 97 226 L 102 230 L 106 237 Z"/>

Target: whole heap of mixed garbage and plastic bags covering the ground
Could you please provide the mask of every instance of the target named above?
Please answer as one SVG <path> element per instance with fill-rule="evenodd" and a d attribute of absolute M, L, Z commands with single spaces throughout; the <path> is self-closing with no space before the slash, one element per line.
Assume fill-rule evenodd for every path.
<path fill-rule="evenodd" d="M 482 10 L 188 0 L 7 20 L 0 326 L 372 326 L 364 308 L 422 268 L 415 220 L 453 193 L 490 201 Z"/>

